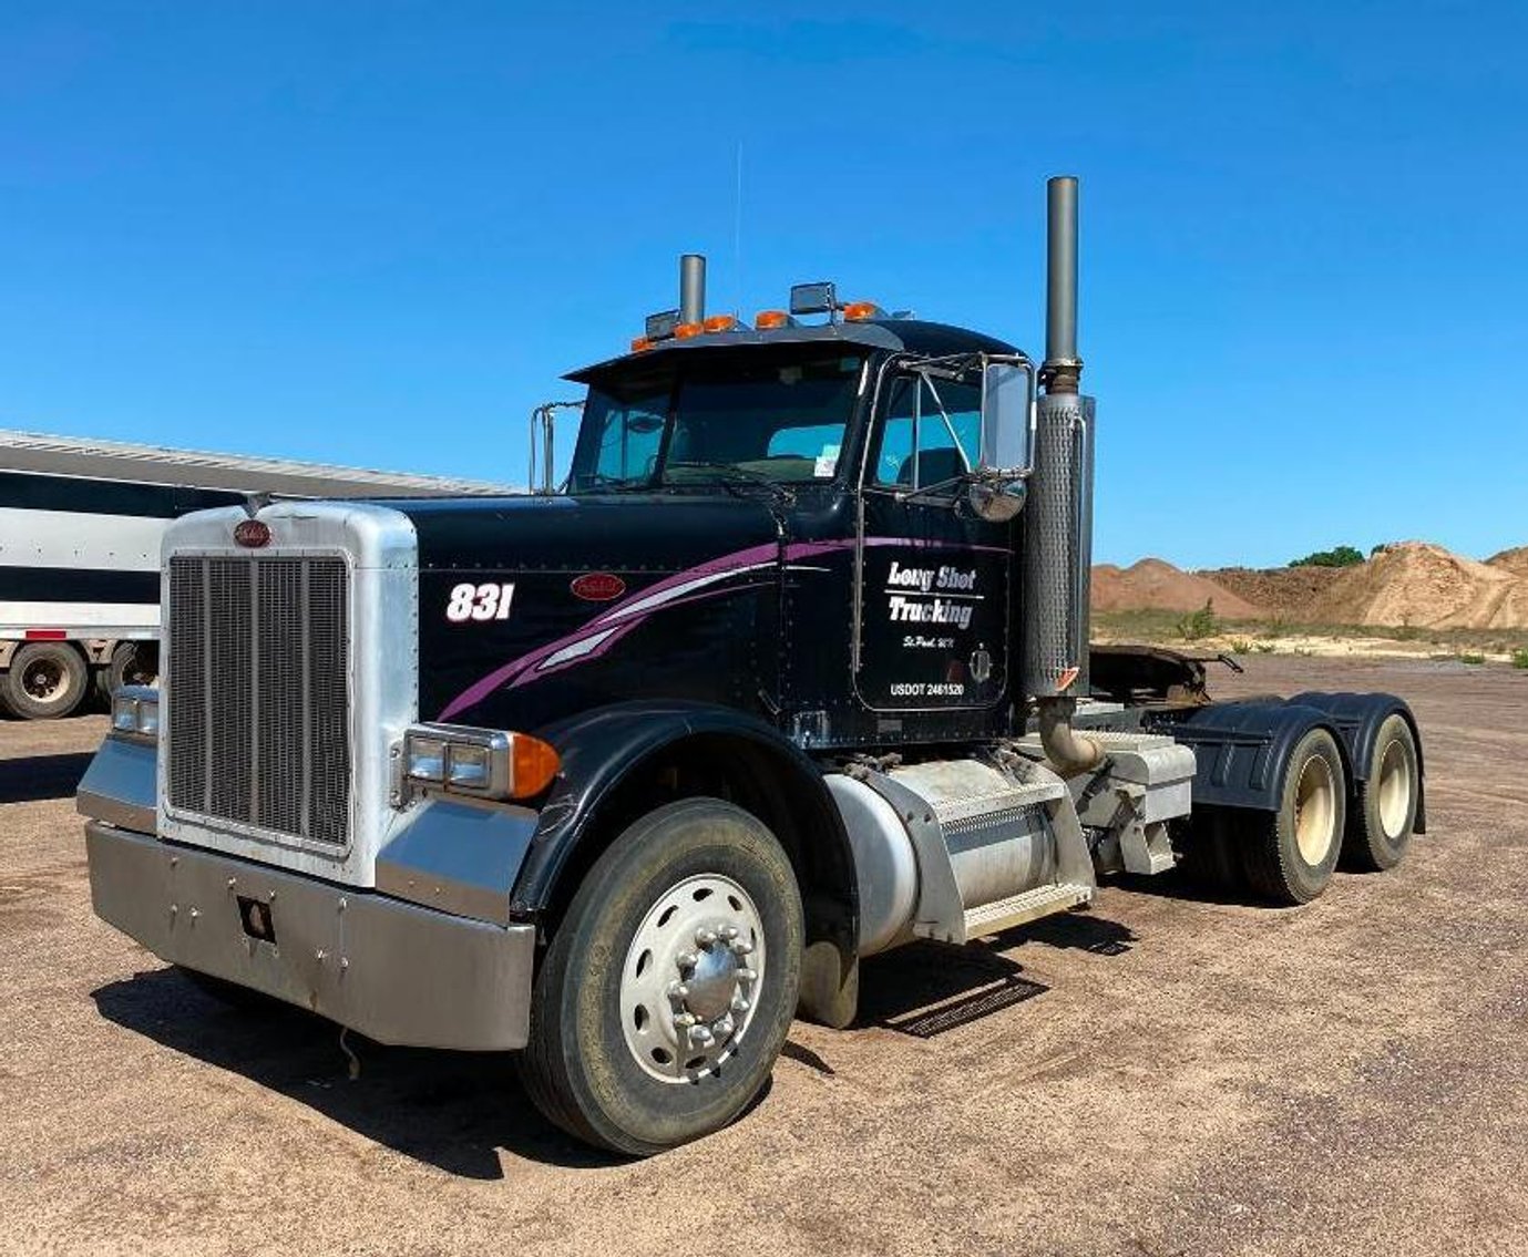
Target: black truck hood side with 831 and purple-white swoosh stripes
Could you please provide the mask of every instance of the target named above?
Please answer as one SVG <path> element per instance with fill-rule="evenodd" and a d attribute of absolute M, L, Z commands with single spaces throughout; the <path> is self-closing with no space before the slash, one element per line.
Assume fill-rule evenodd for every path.
<path fill-rule="evenodd" d="M 776 684 L 781 527 L 753 496 L 390 501 L 419 539 L 419 715 L 535 730 Z M 761 663 L 756 655 L 769 655 Z"/>

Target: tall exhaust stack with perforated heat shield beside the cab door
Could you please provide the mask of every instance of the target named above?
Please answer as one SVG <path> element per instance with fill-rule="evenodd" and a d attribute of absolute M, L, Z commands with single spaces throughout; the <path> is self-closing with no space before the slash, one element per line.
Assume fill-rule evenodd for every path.
<path fill-rule="evenodd" d="M 1024 692 L 1034 700 L 1041 745 L 1062 776 L 1103 762 L 1103 748 L 1071 727 L 1086 695 L 1093 586 L 1093 399 L 1079 394 L 1077 180 L 1045 185 L 1047 283 L 1044 396 L 1034 414 L 1034 470 L 1024 525 Z"/>

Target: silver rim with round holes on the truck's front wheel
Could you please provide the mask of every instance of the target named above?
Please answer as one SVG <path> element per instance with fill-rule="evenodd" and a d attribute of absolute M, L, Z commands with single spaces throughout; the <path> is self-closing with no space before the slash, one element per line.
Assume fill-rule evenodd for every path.
<path fill-rule="evenodd" d="M 659 895 L 620 970 L 620 1026 L 643 1071 L 694 1083 L 736 1054 L 764 977 L 764 921 L 730 877 L 688 877 Z"/>

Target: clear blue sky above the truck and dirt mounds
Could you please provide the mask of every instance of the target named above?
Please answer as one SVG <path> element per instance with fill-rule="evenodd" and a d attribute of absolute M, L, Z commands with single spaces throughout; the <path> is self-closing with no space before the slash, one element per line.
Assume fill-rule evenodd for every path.
<path fill-rule="evenodd" d="M 686 249 L 1039 353 L 1065 171 L 1100 561 L 1484 556 L 1525 64 L 1517 5 L 8 0 L 0 426 L 520 480 Z"/>

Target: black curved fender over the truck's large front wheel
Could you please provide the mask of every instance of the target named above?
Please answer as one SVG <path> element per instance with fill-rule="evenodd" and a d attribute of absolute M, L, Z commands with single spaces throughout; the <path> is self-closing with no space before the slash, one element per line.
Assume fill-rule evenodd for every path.
<path fill-rule="evenodd" d="M 796 869 L 807 947 L 801 1008 L 848 1025 L 859 988 L 859 893 L 848 834 L 822 770 L 778 730 L 735 709 L 685 701 L 620 703 L 579 713 L 536 736 L 562 767 L 515 883 L 510 915 L 556 929 L 584 872 L 626 823 L 662 765 L 686 759 L 744 787 Z M 738 800 L 741 802 L 741 799 Z"/>

